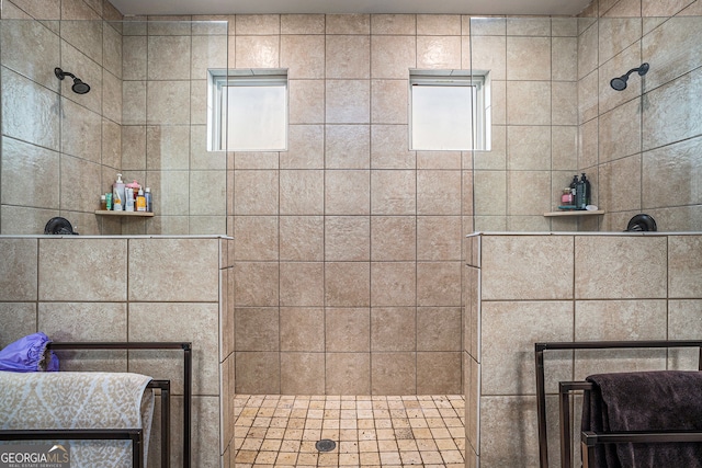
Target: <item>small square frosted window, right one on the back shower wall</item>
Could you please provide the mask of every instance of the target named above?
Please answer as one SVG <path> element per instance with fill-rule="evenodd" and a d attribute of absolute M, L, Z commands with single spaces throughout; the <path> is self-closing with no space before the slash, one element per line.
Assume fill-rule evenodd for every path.
<path fill-rule="evenodd" d="M 410 70 L 410 149 L 488 150 L 487 82 L 471 70 Z"/>

